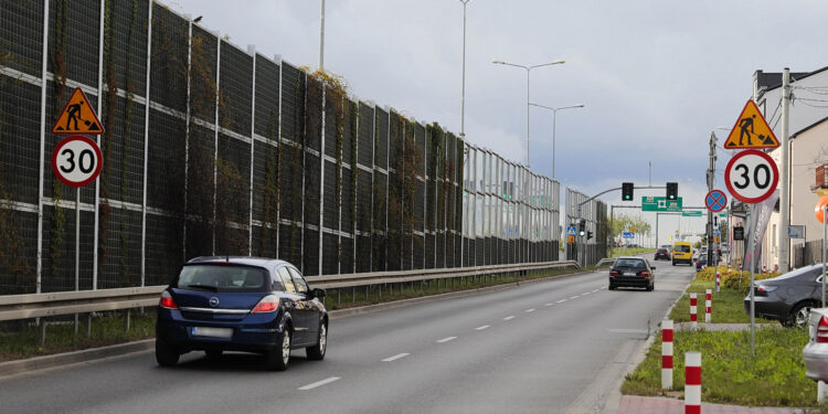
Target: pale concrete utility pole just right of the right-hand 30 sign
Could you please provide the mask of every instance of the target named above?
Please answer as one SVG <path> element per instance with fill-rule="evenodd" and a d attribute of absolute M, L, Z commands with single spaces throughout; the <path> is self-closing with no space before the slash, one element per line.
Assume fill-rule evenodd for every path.
<path fill-rule="evenodd" d="M 782 72 L 782 200 L 779 200 L 778 254 L 779 272 L 788 272 L 788 225 L 790 224 L 790 162 L 788 124 L 790 123 L 790 70 Z"/>

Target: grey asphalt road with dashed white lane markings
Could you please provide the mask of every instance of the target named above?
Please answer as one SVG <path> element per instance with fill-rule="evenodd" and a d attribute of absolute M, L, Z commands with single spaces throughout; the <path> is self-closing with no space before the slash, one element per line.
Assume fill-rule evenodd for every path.
<path fill-rule="evenodd" d="M 201 352 L 33 372 L 0 380 L 0 412 L 599 412 L 692 274 L 660 262 L 655 291 L 609 291 L 604 270 L 338 318 L 326 360 L 295 351 L 286 372 Z"/>

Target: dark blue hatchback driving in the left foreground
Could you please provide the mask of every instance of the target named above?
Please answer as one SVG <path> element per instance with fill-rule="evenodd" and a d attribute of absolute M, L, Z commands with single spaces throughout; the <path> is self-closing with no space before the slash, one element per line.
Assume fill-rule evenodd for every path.
<path fill-rule="evenodd" d="M 262 353 L 267 368 L 287 369 L 290 351 L 322 360 L 328 344 L 325 290 L 310 289 L 291 264 L 257 257 L 197 257 L 161 293 L 156 360 L 182 353 Z"/>

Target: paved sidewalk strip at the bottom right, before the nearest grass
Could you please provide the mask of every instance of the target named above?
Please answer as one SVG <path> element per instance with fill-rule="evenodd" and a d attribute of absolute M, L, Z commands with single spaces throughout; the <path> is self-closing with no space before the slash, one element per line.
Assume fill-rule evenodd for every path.
<path fill-rule="evenodd" d="M 777 408 L 777 407 L 746 407 L 741 405 L 722 405 L 701 403 L 701 412 L 704 414 L 734 413 L 734 414 L 792 414 L 805 413 L 803 408 Z M 684 401 L 656 396 L 622 396 L 618 414 L 683 414 Z"/>

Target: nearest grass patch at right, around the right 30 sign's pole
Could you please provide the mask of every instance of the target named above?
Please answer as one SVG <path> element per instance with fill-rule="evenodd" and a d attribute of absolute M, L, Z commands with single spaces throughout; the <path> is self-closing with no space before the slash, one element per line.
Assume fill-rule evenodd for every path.
<path fill-rule="evenodd" d="M 751 406 L 817 406 L 817 384 L 805 376 L 802 349 L 804 329 L 756 330 L 756 354 L 751 354 L 751 332 L 677 330 L 673 336 L 673 388 L 683 390 L 684 353 L 701 352 L 702 396 L 705 403 Z M 681 396 L 661 391 L 661 335 L 646 359 L 622 385 L 622 393 Z"/>

